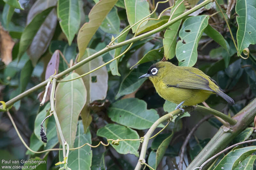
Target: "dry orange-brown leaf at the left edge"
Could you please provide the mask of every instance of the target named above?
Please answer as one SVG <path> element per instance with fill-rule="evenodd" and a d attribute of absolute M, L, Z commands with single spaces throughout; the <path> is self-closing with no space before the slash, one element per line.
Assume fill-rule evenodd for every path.
<path fill-rule="evenodd" d="M 7 31 L 0 25 L 1 58 L 5 65 L 12 61 L 12 48 L 14 41 Z"/>

